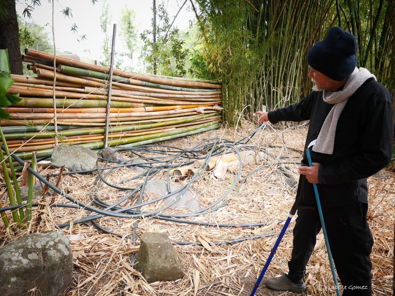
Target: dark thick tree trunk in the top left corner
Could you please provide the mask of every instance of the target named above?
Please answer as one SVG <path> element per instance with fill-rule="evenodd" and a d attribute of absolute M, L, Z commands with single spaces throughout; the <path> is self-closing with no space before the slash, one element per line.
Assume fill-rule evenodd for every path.
<path fill-rule="evenodd" d="M 0 49 L 8 49 L 11 73 L 23 75 L 15 0 L 4 1 L 6 2 L 8 11 L 4 19 L 0 19 Z"/>

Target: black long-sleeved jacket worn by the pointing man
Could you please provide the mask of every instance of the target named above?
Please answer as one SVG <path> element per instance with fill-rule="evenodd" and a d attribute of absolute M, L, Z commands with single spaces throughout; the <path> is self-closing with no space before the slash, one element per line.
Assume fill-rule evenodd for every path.
<path fill-rule="evenodd" d="M 322 92 L 313 91 L 300 103 L 271 111 L 269 121 L 310 120 L 305 148 L 317 139 L 324 120 L 333 107 L 325 103 Z M 392 96 L 373 79 L 365 81 L 348 99 L 340 114 L 333 154 L 314 152 L 312 162 L 321 164 L 317 184 L 323 206 L 341 206 L 351 202 L 367 203 L 367 181 L 391 160 L 393 145 Z M 306 152 L 303 163 L 307 164 Z M 304 175 L 299 178 L 297 196 L 303 204 L 315 204 L 313 186 Z"/>

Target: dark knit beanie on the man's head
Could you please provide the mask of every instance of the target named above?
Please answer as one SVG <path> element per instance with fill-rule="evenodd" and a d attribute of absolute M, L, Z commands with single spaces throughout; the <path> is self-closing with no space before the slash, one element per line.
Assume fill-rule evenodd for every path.
<path fill-rule="evenodd" d="M 357 66 L 357 40 L 340 27 L 332 27 L 307 52 L 307 64 L 327 77 L 343 81 Z"/>

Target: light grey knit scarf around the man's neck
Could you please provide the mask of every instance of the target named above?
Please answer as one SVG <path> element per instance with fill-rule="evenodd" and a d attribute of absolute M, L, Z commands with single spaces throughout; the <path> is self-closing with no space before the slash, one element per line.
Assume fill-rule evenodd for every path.
<path fill-rule="evenodd" d="M 359 86 L 361 86 L 363 82 L 369 78 L 377 80 L 376 76 L 370 73 L 368 69 L 355 68 L 354 72 L 352 72 L 352 74 L 348 77 L 343 90 L 340 90 L 339 92 L 324 90 L 322 94 L 324 102 L 335 105 L 332 107 L 331 112 L 329 112 L 328 116 L 326 117 L 317 140 L 311 142 L 309 145 L 309 147 L 314 145 L 312 148 L 314 152 L 333 154 L 333 146 L 335 145 L 335 132 L 339 116 L 342 113 L 348 98 L 351 97 L 359 88 Z"/>

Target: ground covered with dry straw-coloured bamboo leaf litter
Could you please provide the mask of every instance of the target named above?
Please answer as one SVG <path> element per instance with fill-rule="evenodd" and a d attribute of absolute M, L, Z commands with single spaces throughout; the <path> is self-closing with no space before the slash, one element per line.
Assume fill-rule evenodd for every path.
<path fill-rule="evenodd" d="M 276 130 L 265 127 L 263 131 L 254 136 L 252 142 L 257 146 L 260 144 L 265 146 L 268 151 L 273 153 L 275 158 L 279 155 L 291 156 L 291 159 L 298 161 L 300 153 L 297 150 L 301 151 L 303 149 L 307 127 L 292 127 L 284 132 L 282 126 L 277 127 Z M 254 128 L 252 124 L 246 122 L 236 132 L 224 127 L 161 144 L 191 148 L 203 139 L 212 137 L 239 139 Z M 288 149 L 281 148 L 282 139 Z M 257 167 L 270 162 L 273 162 L 273 158 L 268 157 L 260 163 L 243 167 L 242 178 Z M 230 202 L 220 210 L 189 219 L 212 223 L 260 223 L 286 219 L 294 200 L 295 189 L 285 184 L 284 177 L 278 173 L 279 167 L 267 167 L 256 172 L 243 185 L 239 193 L 228 195 L 227 200 Z M 289 164 L 287 167 L 297 177 L 297 165 Z M 56 172 L 56 170 L 48 170 L 48 172 Z M 395 174 L 393 172 L 388 173 L 389 177 L 383 180 L 369 178 L 370 204 L 368 215 L 369 225 L 375 240 L 371 255 L 374 296 L 392 295 Z M 111 173 L 108 180 L 117 183 L 130 178 L 134 174 L 136 173 L 130 169 L 121 168 Z M 95 178 L 96 174 L 66 175 L 62 178 L 60 187 L 71 196 L 88 203 L 90 202 L 89 191 L 92 190 Z M 201 195 L 199 205 L 204 207 L 218 199 L 228 190 L 234 178 L 235 173 L 232 172 L 228 172 L 224 180 L 217 180 L 210 172 L 204 173 L 192 185 Z M 56 182 L 55 177 L 51 179 L 51 182 Z M 185 182 L 188 182 L 188 179 L 177 183 L 185 184 Z M 129 182 L 127 184 L 133 187 L 136 183 Z M 107 203 L 115 202 L 126 194 L 125 191 L 118 191 L 103 185 L 98 190 L 99 196 Z M 7 204 L 4 189 L 1 196 L 2 203 Z M 144 195 L 145 200 L 153 197 L 153 195 Z M 56 202 L 66 203 L 67 200 L 57 197 Z M 122 206 L 135 202 L 136 199 L 130 199 Z M 142 210 L 154 210 L 161 206 L 163 204 L 156 203 L 145 206 Z M 187 210 L 172 208 L 167 212 L 180 214 L 187 212 Z M 33 213 L 33 220 L 35 220 L 37 211 L 34 210 Z M 88 214 L 85 210 L 54 208 L 50 211 L 45 208 L 42 215 L 43 222 L 38 228 L 30 228 L 28 232 L 53 230 L 55 224 L 70 222 Z M 136 221 L 136 219 L 103 218 L 100 219 L 99 224 L 119 234 L 131 236 Z M 293 225 L 294 220 L 291 222 L 289 229 L 292 229 Z M 92 227 L 91 224 L 68 227 L 64 229 L 64 232 L 71 241 L 74 258 L 74 279 L 68 289 L 61 295 L 117 295 L 120 287 L 122 287 L 120 283 L 125 284 L 123 295 L 249 295 L 276 236 L 231 245 L 215 246 L 211 242 L 264 233 L 278 233 L 280 228 L 281 225 L 273 224 L 257 229 L 226 229 L 169 223 L 149 218 L 140 219 L 137 236 L 140 236 L 144 231 L 167 232 L 172 241 L 203 242 L 206 245 L 205 248 L 197 245 L 175 245 L 181 257 L 185 276 L 173 282 L 148 284 L 129 262 L 130 255 L 137 251 L 138 241 L 137 247 L 134 247 L 130 238 L 103 234 Z M 15 237 L 11 237 L 7 233 L 4 225 L 0 225 L 0 247 L 13 239 Z M 287 261 L 290 259 L 291 250 L 292 233 L 287 233 L 272 260 L 267 272 L 268 276 L 288 271 Z M 334 290 L 322 288 L 333 283 L 322 232 L 318 235 L 314 253 L 307 266 L 307 272 L 305 278 L 307 291 L 303 295 L 335 294 Z M 296 294 L 267 290 L 262 284 L 257 295 L 290 296 Z"/>

